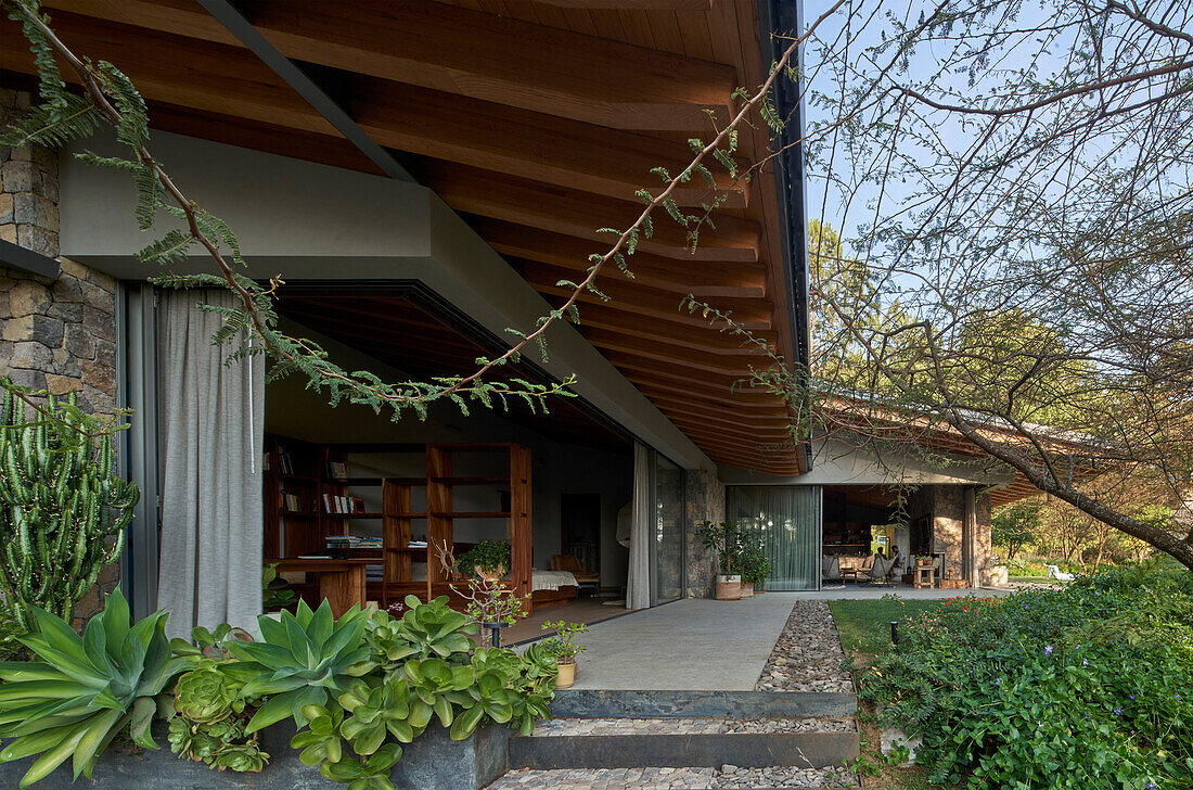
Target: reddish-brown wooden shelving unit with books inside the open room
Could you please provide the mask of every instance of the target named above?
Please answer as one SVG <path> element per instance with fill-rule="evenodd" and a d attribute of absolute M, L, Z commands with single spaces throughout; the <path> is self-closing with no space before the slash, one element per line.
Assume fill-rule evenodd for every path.
<path fill-rule="evenodd" d="M 348 457 L 364 453 L 426 452 L 426 475 L 421 477 L 377 477 L 352 474 Z M 299 555 L 323 554 L 329 535 L 342 535 L 351 520 L 381 520 L 382 548 L 353 553 L 353 557 L 372 557 L 382 566 L 379 585 L 369 585 L 369 597 L 387 605 L 415 594 L 421 600 L 449 594 L 451 588 L 435 555 L 434 545 L 446 541 L 458 553 L 464 545 L 455 542 L 455 523 L 464 519 L 506 519 L 503 536 L 511 545 L 509 585 L 518 595 L 531 590 L 531 451 L 518 444 L 427 444 L 427 445 L 315 445 L 284 437 L 266 436 L 268 464 L 265 471 L 265 556 L 283 561 Z M 487 453 L 500 458 L 506 474 L 456 476 L 457 456 Z M 282 457 L 289 458 L 292 471 L 283 473 Z M 347 476 L 333 479 L 327 471 L 330 463 L 342 463 Z M 490 486 L 507 492 L 508 510 L 457 511 L 453 489 L 457 487 Z M 326 513 L 323 495 L 347 496 L 350 488 L 381 488 L 381 512 Z M 412 493 L 426 488 L 426 510 L 412 510 Z M 285 494 L 298 496 L 302 510 L 283 507 Z M 506 506 L 502 502 L 502 506 Z M 410 548 L 415 535 L 414 523 L 426 520 L 426 548 Z M 414 564 L 426 563 L 427 580 L 414 581 Z M 303 566 L 304 568 L 307 566 Z M 302 592 L 313 592 L 317 585 L 304 585 Z"/>

